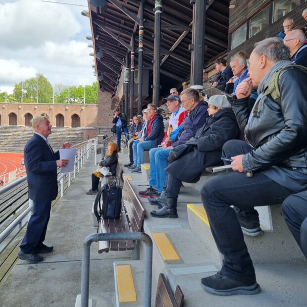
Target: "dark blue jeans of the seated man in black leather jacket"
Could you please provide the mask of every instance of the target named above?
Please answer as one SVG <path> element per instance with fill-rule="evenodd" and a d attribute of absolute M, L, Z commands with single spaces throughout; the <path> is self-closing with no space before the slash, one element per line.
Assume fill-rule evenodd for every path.
<path fill-rule="evenodd" d="M 232 146 L 231 142 L 224 146 Z M 234 155 L 230 151 L 228 153 L 229 156 Z M 255 205 L 280 204 L 292 193 L 261 172 L 255 172 L 253 177 L 248 178 L 245 173 L 229 171 L 205 182 L 201 197 L 214 241 L 224 256 L 223 274 L 242 282 L 256 281 L 253 262 L 231 205 L 245 209 Z"/>

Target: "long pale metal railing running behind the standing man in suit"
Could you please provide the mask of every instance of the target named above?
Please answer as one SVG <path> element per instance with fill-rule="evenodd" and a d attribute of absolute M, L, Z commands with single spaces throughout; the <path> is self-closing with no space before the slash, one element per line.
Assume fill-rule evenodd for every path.
<path fill-rule="evenodd" d="M 64 195 L 64 179 L 68 176 L 68 186 L 70 186 L 71 181 L 76 177 L 76 172 L 78 173 L 80 168 L 85 163 L 86 159 L 89 157 L 89 155 L 92 152 L 92 144 L 94 142 L 94 153 L 96 155 L 96 147 L 97 147 L 97 138 L 90 139 L 88 141 L 76 144 L 72 148 L 77 148 L 77 159 L 75 161 L 74 165 L 74 171 L 73 171 L 73 178 L 71 178 L 71 172 L 60 174 L 60 176 L 57 178 L 58 184 L 60 184 L 60 197 L 62 198 Z M 76 169 L 77 168 L 77 169 Z M 23 176 L 20 179 L 17 179 L 5 186 L 2 186 L 0 188 L 0 197 L 4 193 L 10 191 L 11 189 L 14 189 L 16 186 L 18 186 L 20 183 L 27 180 L 27 176 Z M 29 206 L 16 218 L 14 219 L 1 233 L 0 233 L 0 243 L 9 235 L 9 233 L 22 222 L 22 220 L 29 214 L 29 218 L 32 214 L 33 210 L 33 202 L 29 200 Z"/>

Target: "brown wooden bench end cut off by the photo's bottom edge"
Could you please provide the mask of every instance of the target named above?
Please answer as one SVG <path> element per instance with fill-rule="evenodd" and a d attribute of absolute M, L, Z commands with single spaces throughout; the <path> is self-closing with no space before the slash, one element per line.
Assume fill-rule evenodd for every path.
<path fill-rule="evenodd" d="M 159 275 L 158 286 L 155 295 L 155 307 L 182 307 L 184 295 L 179 286 L 176 287 L 175 294 L 172 293 L 168 281 L 164 274 Z"/>

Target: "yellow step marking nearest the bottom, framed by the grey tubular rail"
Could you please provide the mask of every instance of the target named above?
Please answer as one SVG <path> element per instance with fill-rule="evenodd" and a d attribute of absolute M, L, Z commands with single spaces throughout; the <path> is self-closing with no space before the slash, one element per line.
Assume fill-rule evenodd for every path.
<path fill-rule="evenodd" d="M 119 303 L 136 302 L 137 294 L 130 265 L 116 265 L 116 277 Z"/>

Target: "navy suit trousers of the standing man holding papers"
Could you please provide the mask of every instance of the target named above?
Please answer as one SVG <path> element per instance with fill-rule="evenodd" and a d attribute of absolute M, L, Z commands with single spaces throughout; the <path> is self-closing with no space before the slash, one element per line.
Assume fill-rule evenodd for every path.
<path fill-rule="evenodd" d="M 50 218 L 51 201 L 34 202 L 33 214 L 28 222 L 26 234 L 21 242 L 20 250 L 25 254 L 33 254 L 43 244 Z"/>

